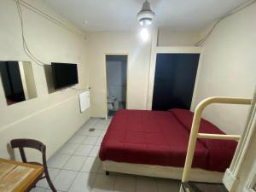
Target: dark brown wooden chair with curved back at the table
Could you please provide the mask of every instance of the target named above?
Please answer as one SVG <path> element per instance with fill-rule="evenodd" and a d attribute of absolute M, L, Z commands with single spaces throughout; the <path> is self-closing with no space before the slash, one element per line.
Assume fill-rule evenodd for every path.
<path fill-rule="evenodd" d="M 47 163 L 46 163 L 46 154 L 45 154 L 46 146 L 44 145 L 44 143 L 41 143 L 34 139 L 13 139 L 10 141 L 10 144 L 11 144 L 12 148 L 19 148 L 20 156 L 24 163 L 41 165 L 44 167 L 44 177 L 41 177 L 40 179 L 46 178 L 47 182 L 49 183 L 50 189 L 53 192 L 57 192 L 57 190 L 55 189 L 55 186 L 53 185 L 53 183 L 51 182 L 50 177 L 49 177 L 49 172 L 48 172 Z M 43 165 L 38 162 L 27 162 L 24 148 L 38 149 L 38 151 L 40 151 L 42 153 Z M 32 187 L 34 187 L 34 186 L 32 186 Z"/>

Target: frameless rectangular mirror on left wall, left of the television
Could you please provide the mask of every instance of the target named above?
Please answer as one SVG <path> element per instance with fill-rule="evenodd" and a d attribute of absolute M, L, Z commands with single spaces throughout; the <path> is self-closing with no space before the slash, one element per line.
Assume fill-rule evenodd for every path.
<path fill-rule="evenodd" d="M 38 96 L 30 61 L 0 61 L 0 76 L 8 105 Z"/>

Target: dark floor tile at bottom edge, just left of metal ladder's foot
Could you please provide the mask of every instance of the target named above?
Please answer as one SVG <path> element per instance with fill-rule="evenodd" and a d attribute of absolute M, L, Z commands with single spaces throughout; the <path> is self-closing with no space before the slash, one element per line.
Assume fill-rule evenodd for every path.
<path fill-rule="evenodd" d="M 180 182 L 172 179 L 159 178 L 157 179 L 157 186 L 159 192 L 178 192 L 180 189 Z"/>

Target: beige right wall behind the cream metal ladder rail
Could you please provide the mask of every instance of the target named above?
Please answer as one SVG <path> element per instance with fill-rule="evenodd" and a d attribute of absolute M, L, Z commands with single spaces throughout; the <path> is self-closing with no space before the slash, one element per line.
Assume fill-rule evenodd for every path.
<path fill-rule="evenodd" d="M 195 104 L 208 96 L 251 98 L 256 84 L 256 4 L 221 21 L 203 46 Z M 195 106 L 193 107 L 195 108 Z M 241 134 L 247 107 L 212 105 L 204 117 L 227 133 Z"/>

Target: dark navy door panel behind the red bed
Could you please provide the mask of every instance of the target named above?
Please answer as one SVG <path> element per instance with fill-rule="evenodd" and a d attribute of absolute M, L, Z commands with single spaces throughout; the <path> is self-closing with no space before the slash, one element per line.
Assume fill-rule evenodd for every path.
<path fill-rule="evenodd" d="M 157 54 L 153 110 L 190 109 L 200 54 Z"/>

